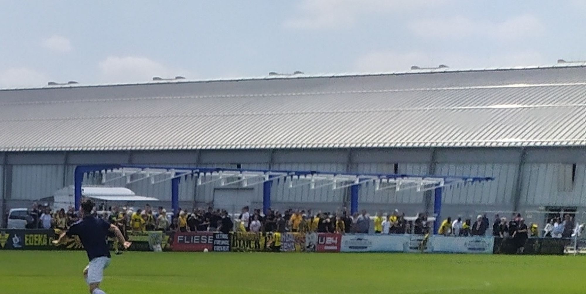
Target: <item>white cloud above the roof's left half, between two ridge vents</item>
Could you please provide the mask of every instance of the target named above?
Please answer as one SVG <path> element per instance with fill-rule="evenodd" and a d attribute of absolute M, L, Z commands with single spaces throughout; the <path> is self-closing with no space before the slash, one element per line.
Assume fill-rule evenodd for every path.
<path fill-rule="evenodd" d="M 173 78 L 177 75 L 193 78 L 188 71 L 139 56 L 110 56 L 100 61 L 98 67 L 100 79 L 104 82 L 146 82 L 151 81 L 152 77 Z"/>

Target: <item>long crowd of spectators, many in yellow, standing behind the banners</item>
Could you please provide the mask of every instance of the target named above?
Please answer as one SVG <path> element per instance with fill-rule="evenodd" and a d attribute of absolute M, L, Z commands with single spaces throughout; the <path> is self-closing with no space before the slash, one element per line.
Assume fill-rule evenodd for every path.
<path fill-rule="evenodd" d="M 123 232 L 126 231 L 252 231 L 252 232 L 317 232 L 317 233 L 369 233 L 376 234 L 426 234 L 432 230 L 433 223 L 425 213 L 406 218 L 404 213 L 394 210 L 391 213 L 378 212 L 370 217 L 366 210 L 350 215 L 347 209 L 336 213 L 313 212 L 310 210 L 287 209 L 284 212 L 270 209 L 263 215 L 260 209 L 250 212 L 248 206 L 241 212 L 230 215 L 226 210 L 207 210 L 195 208 L 192 213 L 181 210 L 178 215 L 168 215 L 163 207 L 153 210 L 150 205 L 134 211 L 130 207 L 99 207 L 96 216 L 108 219 Z M 51 210 L 48 206 L 33 203 L 29 211 L 27 229 L 67 229 L 79 219 L 73 207 Z M 373 226 L 373 227 L 371 227 Z M 478 215 L 475 222 L 461 217 L 451 217 L 441 222 L 437 233 L 444 236 L 486 236 L 490 222 L 488 216 Z M 546 224 L 541 237 L 569 238 L 574 230 L 574 219 L 565 215 L 563 219 L 554 217 Z M 537 224 L 527 226 L 520 214 L 506 217 L 495 216 L 492 235 L 510 238 L 524 243 L 528 237 L 539 236 Z"/>

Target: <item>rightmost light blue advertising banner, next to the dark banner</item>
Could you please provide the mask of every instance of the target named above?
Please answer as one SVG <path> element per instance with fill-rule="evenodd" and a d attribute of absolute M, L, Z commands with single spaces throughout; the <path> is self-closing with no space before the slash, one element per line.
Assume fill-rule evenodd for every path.
<path fill-rule="evenodd" d="M 493 237 L 445 237 L 432 236 L 430 239 L 434 253 L 483 253 L 492 254 L 495 245 Z"/>

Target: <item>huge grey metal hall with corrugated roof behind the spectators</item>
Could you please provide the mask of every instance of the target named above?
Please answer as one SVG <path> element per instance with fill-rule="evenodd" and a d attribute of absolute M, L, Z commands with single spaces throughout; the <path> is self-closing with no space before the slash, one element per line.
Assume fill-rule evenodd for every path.
<path fill-rule="evenodd" d="M 586 207 L 584 64 L 3 89 L 0 120 L 2 212 L 73 184 L 80 164 L 493 177 L 447 189 L 442 216 Z M 170 185 L 127 188 L 168 205 Z M 261 207 L 261 189 L 189 179 L 180 201 Z M 278 208 L 349 201 L 345 189 L 272 191 Z M 431 199 L 360 189 L 371 212 Z"/>

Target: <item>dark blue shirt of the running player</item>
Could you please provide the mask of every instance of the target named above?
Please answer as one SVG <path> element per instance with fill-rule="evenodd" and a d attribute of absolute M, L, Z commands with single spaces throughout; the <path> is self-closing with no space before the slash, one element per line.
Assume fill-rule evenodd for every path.
<path fill-rule="evenodd" d="M 106 241 L 108 230 L 110 223 L 97 217 L 86 216 L 69 228 L 67 236 L 79 236 L 83 248 L 86 249 L 87 258 L 91 261 L 97 257 L 110 257 L 110 248 Z"/>

